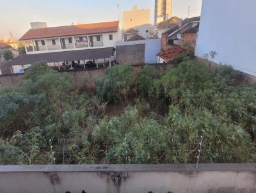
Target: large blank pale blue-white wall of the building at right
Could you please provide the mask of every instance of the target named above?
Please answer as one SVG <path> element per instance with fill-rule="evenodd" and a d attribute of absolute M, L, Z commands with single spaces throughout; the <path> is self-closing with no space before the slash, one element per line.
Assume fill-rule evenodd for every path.
<path fill-rule="evenodd" d="M 255 7 L 255 0 L 203 0 L 196 56 L 216 51 L 216 63 L 256 76 Z"/>

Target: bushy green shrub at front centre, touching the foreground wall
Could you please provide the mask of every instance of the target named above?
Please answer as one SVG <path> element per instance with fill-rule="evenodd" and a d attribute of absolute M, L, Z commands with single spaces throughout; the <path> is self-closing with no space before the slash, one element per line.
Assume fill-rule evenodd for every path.
<path fill-rule="evenodd" d="M 136 107 L 120 118 L 103 120 L 93 132 L 95 141 L 106 144 L 109 164 L 159 163 L 168 148 L 163 127 L 153 119 L 140 119 Z"/>

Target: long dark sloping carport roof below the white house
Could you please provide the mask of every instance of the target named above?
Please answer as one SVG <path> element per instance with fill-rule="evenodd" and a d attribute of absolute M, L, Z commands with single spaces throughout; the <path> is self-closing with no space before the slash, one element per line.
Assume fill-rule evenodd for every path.
<path fill-rule="evenodd" d="M 110 58 L 113 54 L 114 47 L 87 49 L 87 50 L 72 50 L 63 52 L 49 52 L 44 54 L 24 54 L 11 61 L 6 62 L 6 66 L 15 65 L 32 65 L 38 61 L 46 61 L 47 63 L 58 63 L 63 61 L 76 61 L 87 59 L 104 59 Z"/>

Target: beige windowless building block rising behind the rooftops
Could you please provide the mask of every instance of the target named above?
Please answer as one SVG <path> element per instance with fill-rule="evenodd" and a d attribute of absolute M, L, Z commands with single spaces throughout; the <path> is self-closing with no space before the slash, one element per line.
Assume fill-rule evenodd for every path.
<path fill-rule="evenodd" d="M 143 24 L 150 24 L 150 10 L 138 10 L 133 6 L 132 11 L 123 13 L 124 30 Z"/>

